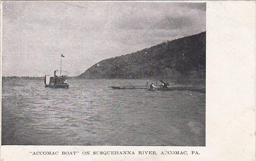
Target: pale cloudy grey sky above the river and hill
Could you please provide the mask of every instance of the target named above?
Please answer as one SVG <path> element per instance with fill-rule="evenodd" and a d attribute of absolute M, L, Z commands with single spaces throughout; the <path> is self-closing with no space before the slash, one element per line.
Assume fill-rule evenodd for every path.
<path fill-rule="evenodd" d="M 77 76 L 99 61 L 206 30 L 206 3 L 4 1 L 2 76 Z M 58 71 L 59 72 L 59 71 Z"/>

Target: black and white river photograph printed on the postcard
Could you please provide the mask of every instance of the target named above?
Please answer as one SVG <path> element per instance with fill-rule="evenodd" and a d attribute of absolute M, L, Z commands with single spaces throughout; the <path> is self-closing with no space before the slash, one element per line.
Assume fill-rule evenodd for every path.
<path fill-rule="evenodd" d="M 205 2 L 4 1 L 1 23 L 1 145 L 205 147 Z"/>

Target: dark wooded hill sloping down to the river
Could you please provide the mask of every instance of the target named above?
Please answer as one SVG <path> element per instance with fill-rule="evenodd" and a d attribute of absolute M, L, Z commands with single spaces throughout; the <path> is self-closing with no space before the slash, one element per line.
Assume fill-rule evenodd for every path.
<path fill-rule="evenodd" d="M 205 78 L 206 32 L 102 60 L 80 78 Z"/>

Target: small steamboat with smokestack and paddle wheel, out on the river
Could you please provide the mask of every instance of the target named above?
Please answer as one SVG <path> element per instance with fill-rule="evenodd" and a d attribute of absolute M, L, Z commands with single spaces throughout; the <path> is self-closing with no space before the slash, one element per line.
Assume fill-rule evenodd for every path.
<path fill-rule="evenodd" d="M 45 87 L 68 88 L 68 76 L 62 75 L 61 77 L 58 77 L 55 70 L 54 77 L 49 77 L 49 75 L 45 75 Z"/>

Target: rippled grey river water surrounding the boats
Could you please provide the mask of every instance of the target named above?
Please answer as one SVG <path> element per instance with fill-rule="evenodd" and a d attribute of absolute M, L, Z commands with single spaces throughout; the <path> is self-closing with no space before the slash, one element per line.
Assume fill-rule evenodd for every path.
<path fill-rule="evenodd" d="M 2 145 L 205 146 L 205 93 L 112 90 L 153 80 L 2 80 Z"/>

